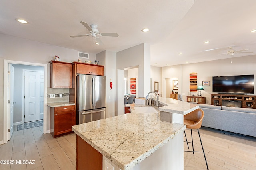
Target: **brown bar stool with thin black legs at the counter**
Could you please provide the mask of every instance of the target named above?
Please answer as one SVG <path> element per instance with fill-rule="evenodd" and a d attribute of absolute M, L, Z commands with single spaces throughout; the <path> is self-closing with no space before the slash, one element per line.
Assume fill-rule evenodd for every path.
<path fill-rule="evenodd" d="M 190 129 L 191 139 L 192 139 L 192 142 L 188 142 L 188 141 L 186 141 L 186 142 L 187 142 L 187 144 L 192 143 L 192 148 L 193 148 L 193 151 L 184 150 L 184 152 L 193 152 L 193 154 L 194 154 L 194 152 L 200 152 L 200 151 L 194 151 L 194 143 L 193 143 L 193 136 L 192 136 L 192 129 L 197 129 L 199 139 L 201 142 L 201 146 L 202 146 L 202 150 L 203 150 L 201 153 L 204 153 L 204 147 L 203 147 L 202 140 L 201 140 L 200 133 L 199 133 L 199 129 L 201 128 L 203 117 L 204 117 L 204 111 L 202 111 L 202 109 L 196 109 L 196 110 L 184 115 L 184 119 L 183 119 L 184 125 L 186 125 L 188 129 Z M 186 133 L 185 133 L 185 136 L 186 136 Z M 205 153 L 204 153 L 204 159 L 206 162 L 207 169 L 209 169 Z"/>

